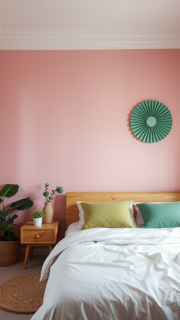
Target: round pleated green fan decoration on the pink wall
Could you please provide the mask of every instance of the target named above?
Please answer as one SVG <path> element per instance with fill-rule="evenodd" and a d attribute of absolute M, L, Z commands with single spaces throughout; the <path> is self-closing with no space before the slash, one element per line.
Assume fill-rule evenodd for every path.
<path fill-rule="evenodd" d="M 131 115 L 131 129 L 143 142 L 158 142 L 171 130 L 172 116 L 169 109 L 159 101 L 146 100 L 138 104 Z"/>

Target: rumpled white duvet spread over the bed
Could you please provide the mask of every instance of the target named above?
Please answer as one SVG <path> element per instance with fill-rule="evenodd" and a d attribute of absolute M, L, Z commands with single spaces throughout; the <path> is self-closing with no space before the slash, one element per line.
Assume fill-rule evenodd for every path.
<path fill-rule="evenodd" d="M 94 228 L 50 253 L 32 320 L 179 320 L 180 228 Z"/>

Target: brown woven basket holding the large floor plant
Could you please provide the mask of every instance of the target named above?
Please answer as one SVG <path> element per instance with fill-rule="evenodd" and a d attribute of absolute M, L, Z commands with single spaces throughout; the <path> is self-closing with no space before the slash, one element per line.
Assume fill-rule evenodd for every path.
<path fill-rule="evenodd" d="M 16 241 L 5 241 L 4 237 L 0 237 L 0 267 L 12 266 L 18 262 L 20 248 L 20 228 L 18 228 L 18 236 L 15 236 Z"/>

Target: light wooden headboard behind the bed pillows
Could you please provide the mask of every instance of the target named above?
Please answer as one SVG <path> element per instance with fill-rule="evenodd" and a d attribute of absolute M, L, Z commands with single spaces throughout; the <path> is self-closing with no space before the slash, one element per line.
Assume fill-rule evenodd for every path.
<path fill-rule="evenodd" d="M 66 193 L 66 228 L 79 221 L 76 201 L 83 202 L 173 202 L 180 201 L 180 192 L 67 192 Z"/>

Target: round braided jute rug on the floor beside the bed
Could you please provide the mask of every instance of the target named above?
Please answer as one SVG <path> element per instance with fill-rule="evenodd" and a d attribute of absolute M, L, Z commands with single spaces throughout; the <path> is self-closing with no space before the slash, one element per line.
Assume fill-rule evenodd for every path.
<path fill-rule="evenodd" d="M 40 272 L 29 273 L 7 280 L 0 286 L 0 308 L 19 312 L 34 313 L 43 304 L 47 279 L 39 281 Z"/>

